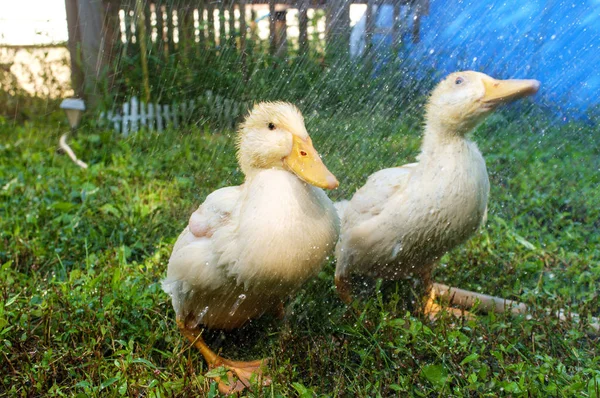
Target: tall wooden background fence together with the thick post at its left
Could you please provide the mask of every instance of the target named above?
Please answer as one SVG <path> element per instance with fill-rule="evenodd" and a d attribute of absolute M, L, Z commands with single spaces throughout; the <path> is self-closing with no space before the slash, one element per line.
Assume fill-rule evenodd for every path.
<path fill-rule="evenodd" d="M 288 48 L 290 11 L 297 15 L 294 28 L 298 32 L 299 54 L 309 50 L 309 33 L 314 25 L 309 16 L 324 15 L 324 51 L 343 56 L 349 52 L 350 7 L 366 6 L 368 56 L 371 38 L 377 33 L 375 7 L 384 4 L 394 7 L 391 33 L 395 43 L 401 40 L 401 32 L 407 30 L 412 32 L 412 40 L 418 41 L 420 19 L 429 8 L 429 0 L 65 0 L 65 4 L 73 87 L 76 95 L 87 94 L 92 107 L 95 96 L 99 95 L 97 79 L 106 76 L 107 71 L 110 75 L 110 66 L 124 49 L 138 52 L 141 64 L 147 67 L 148 46 L 168 56 L 192 49 L 201 54 L 203 49 L 228 44 L 239 50 L 243 65 L 248 41 L 256 39 L 260 8 L 268 10 L 265 47 L 276 56 L 283 56 Z M 147 76 L 148 71 L 144 74 Z"/>

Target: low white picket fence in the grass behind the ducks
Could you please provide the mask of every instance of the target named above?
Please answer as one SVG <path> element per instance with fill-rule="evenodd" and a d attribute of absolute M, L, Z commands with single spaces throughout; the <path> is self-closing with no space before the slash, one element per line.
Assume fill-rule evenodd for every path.
<path fill-rule="evenodd" d="M 140 130 L 162 132 L 193 124 L 211 123 L 233 128 L 236 121 L 250 108 L 249 102 L 238 102 L 207 91 L 197 100 L 171 105 L 144 103 L 137 97 L 125 102 L 119 111 L 102 112 L 100 123 L 108 124 L 124 136 Z"/>

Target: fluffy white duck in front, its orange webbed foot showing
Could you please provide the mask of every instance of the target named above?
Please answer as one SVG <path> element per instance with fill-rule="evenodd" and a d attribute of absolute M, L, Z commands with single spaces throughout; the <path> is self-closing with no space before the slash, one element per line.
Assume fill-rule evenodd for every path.
<path fill-rule="evenodd" d="M 189 218 L 168 263 L 163 290 L 176 323 L 216 378 L 223 393 L 263 384 L 266 360 L 233 361 L 201 337 L 204 328 L 232 330 L 282 303 L 315 276 L 333 254 L 340 220 L 324 189 L 339 183 L 324 165 L 302 113 L 286 102 L 256 104 L 240 125 L 239 186 L 208 195 Z"/>

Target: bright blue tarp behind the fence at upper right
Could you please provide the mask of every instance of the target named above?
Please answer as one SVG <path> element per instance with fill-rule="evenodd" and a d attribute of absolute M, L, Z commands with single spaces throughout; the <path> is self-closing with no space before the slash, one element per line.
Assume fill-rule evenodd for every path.
<path fill-rule="evenodd" d="M 375 8 L 376 28 L 392 26 L 391 6 Z M 364 47 L 365 17 L 354 27 L 351 52 Z M 560 111 L 600 107 L 600 0 L 430 0 L 421 41 L 404 34 L 400 56 L 440 74 L 478 70 L 498 78 L 535 78 L 537 96 Z M 382 51 L 391 33 L 373 37 Z"/>

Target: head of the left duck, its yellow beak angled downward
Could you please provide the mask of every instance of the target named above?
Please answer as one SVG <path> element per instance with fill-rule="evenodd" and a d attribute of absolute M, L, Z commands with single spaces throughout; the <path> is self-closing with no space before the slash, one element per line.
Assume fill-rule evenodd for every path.
<path fill-rule="evenodd" d="M 286 102 L 256 104 L 242 123 L 238 161 L 245 175 L 283 169 L 319 188 L 339 185 L 312 145 L 302 113 Z"/>

